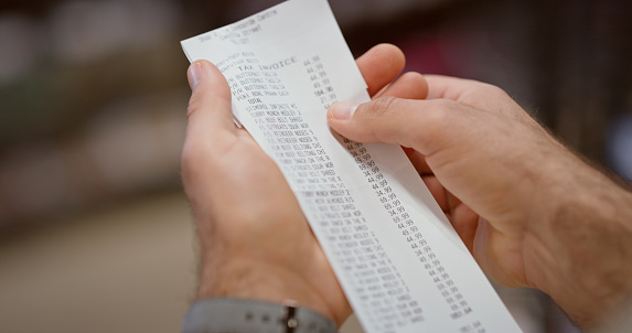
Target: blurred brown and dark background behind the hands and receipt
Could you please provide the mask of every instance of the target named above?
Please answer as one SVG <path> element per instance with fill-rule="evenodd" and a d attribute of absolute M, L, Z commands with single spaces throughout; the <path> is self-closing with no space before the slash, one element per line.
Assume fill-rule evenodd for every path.
<path fill-rule="evenodd" d="M 179 331 L 196 275 L 179 42 L 278 2 L 0 2 L 1 332 Z M 356 56 L 389 42 L 408 71 L 499 85 L 632 179 L 632 1 L 330 3 Z M 525 332 L 579 332 L 500 291 Z"/>

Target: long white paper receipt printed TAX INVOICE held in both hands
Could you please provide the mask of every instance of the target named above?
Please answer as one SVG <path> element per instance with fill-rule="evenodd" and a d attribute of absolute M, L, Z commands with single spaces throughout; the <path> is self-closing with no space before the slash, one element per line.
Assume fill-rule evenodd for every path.
<path fill-rule="evenodd" d="M 182 46 L 226 76 L 235 118 L 283 172 L 366 332 L 521 332 L 403 150 L 329 128 L 333 101 L 369 96 L 326 0 Z"/>

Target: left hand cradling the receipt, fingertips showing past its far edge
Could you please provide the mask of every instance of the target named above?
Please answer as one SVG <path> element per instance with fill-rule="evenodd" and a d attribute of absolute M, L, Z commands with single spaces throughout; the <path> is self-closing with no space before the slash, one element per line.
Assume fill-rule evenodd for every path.
<path fill-rule="evenodd" d="M 404 55 L 378 45 L 357 60 L 371 95 L 422 98 L 418 74 L 394 78 Z M 233 123 L 231 90 L 211 63 L 191 65 L 182 181 L 200 236 L 199 298 L 298 301 L 341 325 L 351 313 L 278 166 Z"/>

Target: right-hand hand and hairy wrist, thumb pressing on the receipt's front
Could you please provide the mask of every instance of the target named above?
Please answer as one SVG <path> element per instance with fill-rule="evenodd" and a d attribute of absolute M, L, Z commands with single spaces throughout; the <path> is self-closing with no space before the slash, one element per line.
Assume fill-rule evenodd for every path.
<path fill-rule="evenodd" d="M 334 104 L 360 142 L 405 147 L 483 270 L 549 293 L 583 326 L 632 290 L 632 195 L 587 165 L 497 87 L 426 76 L 425 100 Z"/>

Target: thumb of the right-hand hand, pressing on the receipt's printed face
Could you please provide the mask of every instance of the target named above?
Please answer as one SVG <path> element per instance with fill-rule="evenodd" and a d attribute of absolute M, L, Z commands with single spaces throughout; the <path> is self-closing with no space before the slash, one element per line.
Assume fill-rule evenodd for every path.
<path fill-rule="evenodd" d="M 379 97 L 364 104 L 334 103 L 328 110 L 332 129 L 358 142 L 385 142 L 413 148 L 422 154 L 436 151 L 447 138 L 450 100 Z"/>

